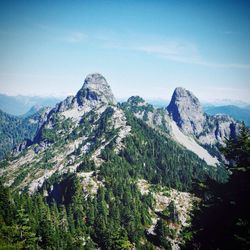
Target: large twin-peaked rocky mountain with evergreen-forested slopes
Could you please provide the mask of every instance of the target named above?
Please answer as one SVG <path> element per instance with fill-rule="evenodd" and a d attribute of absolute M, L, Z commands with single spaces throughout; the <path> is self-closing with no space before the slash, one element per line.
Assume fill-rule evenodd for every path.
<path fill-rule="evenodd" d="M 1 245 L 179 249 L 199 202 L 194 184 L 228 176 L 200 142 L 203 130 L 208 138 L 238 125 L 205 115 L 184 89 L 171 102 L 167 110 L 138 96 L 117 104 L 106 79 L 88 75 L 75 96 L 44 113 L 33 139 L 0 162 Z"/>

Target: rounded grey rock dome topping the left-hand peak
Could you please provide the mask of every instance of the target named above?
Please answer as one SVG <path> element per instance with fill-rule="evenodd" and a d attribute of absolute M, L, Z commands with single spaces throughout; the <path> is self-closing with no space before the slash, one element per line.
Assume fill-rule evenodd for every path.
<path fill-rule="evenodd" d="M 106 79 L 98 73 L 90 74 L 85 78 L 82 88 L 76 94 L 77 102 L 83 106 L 85 102 L 103 102 L 116 104 L 115 97 Z"/>

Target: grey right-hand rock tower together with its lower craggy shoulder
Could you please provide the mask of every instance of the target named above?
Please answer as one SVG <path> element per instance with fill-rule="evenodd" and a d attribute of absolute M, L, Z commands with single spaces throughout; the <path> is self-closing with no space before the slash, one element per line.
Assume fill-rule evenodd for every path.
<path fill-rule="evenodd" d="M 240 127 L 240 123 L 227 115 L 205 114 L 198 98 L 184 88 L 175 89 L 167 111 L 186 135 L 196 137 L 202 145 L 223 145 Z"/>

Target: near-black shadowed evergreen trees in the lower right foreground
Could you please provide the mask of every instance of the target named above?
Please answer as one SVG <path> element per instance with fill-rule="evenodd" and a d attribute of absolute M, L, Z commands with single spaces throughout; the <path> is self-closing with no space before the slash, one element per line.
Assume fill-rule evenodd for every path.
<path fill-rule="evenodd" d="M 250 133 L 243 124 L 236 138 L 222 150 L 231 172 L 227 183 L 208 180 L 202 192 L 204 205 L 193 220 L 197 232 L 188 249 L 250 248 Z"/>

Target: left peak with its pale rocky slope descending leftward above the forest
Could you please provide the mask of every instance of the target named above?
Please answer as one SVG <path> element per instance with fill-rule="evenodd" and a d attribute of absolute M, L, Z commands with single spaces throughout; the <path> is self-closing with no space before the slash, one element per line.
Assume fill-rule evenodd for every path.
<path fill-rule="evenodd" d="M 131 130 L 124 111 L 116 106 L 110 86 L 100 74 L 88 75 L 76 96 L 46 110 L 37 123 L 39 130 L 34 140 L 25 141 L 16 149 L 17 154 L 27 151 L 1 173 L 10 180 L 8 185 L 18 183 L 21 174 L 15 188 L 28 187 L 30 193 L 54 174 L 76 172 L 86 154 L 99 167 L 104 162 L 102 150 L 112 144 L 118 154 Z"/>

